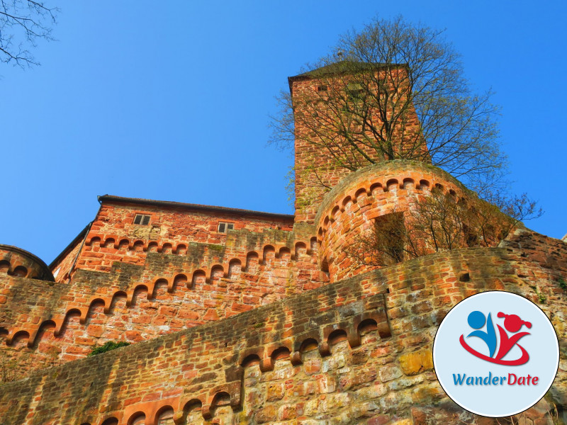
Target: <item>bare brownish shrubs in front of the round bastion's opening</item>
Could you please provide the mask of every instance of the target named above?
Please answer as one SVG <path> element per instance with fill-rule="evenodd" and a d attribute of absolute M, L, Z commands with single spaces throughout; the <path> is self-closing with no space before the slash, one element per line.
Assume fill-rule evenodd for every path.
<path fill-rule="evenodd" d="M 542 213 L 525 195 L 499 203 L 473 193 L 468 200 L 457 199 L 434 188 L 430 195 L 415 198 L 405 213 L 378 217 L 345 252 L 359 266 L 382 267 L 439 251 L 498 246 L 522 220 Z"/>

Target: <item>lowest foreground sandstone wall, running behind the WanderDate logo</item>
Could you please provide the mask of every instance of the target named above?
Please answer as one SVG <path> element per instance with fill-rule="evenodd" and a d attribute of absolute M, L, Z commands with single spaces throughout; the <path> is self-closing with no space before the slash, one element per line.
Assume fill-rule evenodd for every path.
<path fill-rule="evenodd" d="M 39 370 L 0 387 L 0 417 L 6 425 L 498 424 L 447 399 L 430 350 L 452 305 L 510 290 L 537 302 L 561 341 L 551 391 L 514 421 L 565 420 L 566 254 L 563 242 L 522 230 L 498 249 L 406 261 Z"/>

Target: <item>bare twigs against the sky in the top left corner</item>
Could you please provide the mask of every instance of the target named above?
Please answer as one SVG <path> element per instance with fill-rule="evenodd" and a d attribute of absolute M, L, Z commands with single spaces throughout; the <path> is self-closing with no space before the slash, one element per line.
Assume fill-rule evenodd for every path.
<path fill-rule="evenodd" d="M 30 49 L 38 40 L 53 40 L 59 9 L 45 1 L 0 0 L 0 60 L 18 67 L 38 65 Z"/>

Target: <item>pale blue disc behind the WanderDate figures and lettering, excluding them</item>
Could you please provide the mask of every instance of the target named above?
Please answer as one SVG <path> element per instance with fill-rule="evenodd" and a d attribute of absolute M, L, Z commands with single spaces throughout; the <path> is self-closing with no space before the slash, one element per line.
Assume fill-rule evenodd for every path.
<path fill-rule="evenodd" d="M 466 337 L 475 330 L 468 325 L 468 314 L 477 310 L 487 318 L 488 313 L 491 314 L 499 342 L 500 332 L 496 325 L 500 324 L 504 328 L 504 318 L 498 318 L 498 312 L 517 314 L 522 320 L 532 323 L 531 328 L 522 326 L 518 331 L 529 332 L 529 335 L 517 342 L 529 353 L 527 363 L 517 366 L 490 363 L 473 356 L 461 346 L 459 338 L 464 335 L 469 346 L 486 356 L 489 354 L 482 339 L 476 336 Z M 485 331 L 486 327 L 480 330 Z M 512 336 L 510 332 L 507 334 Z M 496 353 L 499 346 L 500 344 Z M 515 360 L 520 356 L 520 348 L 515 346 L 503 360 Z M 532 407 L 549 390 L 558 370 L 559 344 L 554 327 L 537 305 L 520 295 L 489 291 L 472 295 L 449 311 L 435 335 L 433 363 L 439 383 L 456 404 L 482 416 L 511 416 Z M 492 373 L 492 377 L 505 376 L 506 380 L 504 385 L 500 385 L 500 380 L 498 385 L 455 385 L 453 374 L 459 373 L 461 376 L 466 374 L 467 377 L 483 378 Z M 532 385 L 531 379 L 530 385 L 508 385 L 508 373 L 514 373 L 518 378 L 529 374 L 531 377 L 537 376 L 539 380 L 537 385 Z"/>

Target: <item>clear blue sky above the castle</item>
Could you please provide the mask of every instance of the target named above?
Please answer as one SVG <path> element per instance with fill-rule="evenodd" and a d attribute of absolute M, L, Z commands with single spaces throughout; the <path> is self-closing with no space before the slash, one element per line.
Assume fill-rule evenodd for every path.
<path fill-rule="evenodd" d="M 517 193 L 567 232 L 567 2 L 48 0 L 34 51 L 0 64 L 0 243 L 49 263 L 97 195 L 293 213 L 291 158 L 266 147 L 274 96 L 337 36 L 380 13 L 447 28 L 466 75 L 496 91 Z"/>

